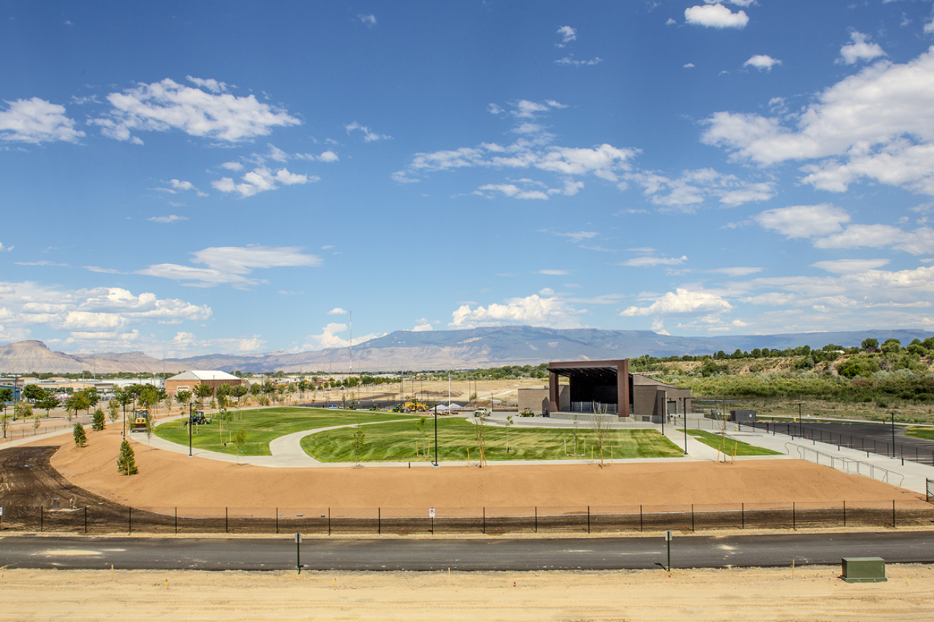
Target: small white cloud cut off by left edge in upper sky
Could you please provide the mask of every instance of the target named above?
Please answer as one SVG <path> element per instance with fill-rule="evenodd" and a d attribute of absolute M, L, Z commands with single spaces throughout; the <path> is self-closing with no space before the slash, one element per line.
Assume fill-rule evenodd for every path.
<path fill-rule="evenodd" d="M 75 130 L 75 120 L 66 117 L 64 105 L 51 104 L 38 97 L 30 100 L 5 102 L 7 110 L 0 110 L 0 139 L 10 142 L 78 143 L 83 131 Z"/>

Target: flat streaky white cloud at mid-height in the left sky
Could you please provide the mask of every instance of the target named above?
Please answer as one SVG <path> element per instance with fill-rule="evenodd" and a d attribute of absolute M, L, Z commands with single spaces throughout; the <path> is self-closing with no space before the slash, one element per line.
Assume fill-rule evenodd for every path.
<path fill-rule="evenodd" d="M 321 265 L 321 258 L 305 255 L 297 246 L 223 246 L 205 248 L 192 253 L 192 263 L 207 268 L 194 268 L 179 264 L 154 264 L 138 274 L 158 276 L 197 287 L 210 287 L 219 283 L 231 283 L 234 287 L 264 283 L 249 278 L 253 270 L 284 267 L 314 267 Z"/>

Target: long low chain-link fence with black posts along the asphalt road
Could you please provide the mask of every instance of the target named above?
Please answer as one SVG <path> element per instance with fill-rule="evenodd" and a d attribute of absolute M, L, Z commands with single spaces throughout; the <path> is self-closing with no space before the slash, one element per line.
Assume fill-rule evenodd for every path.
<path fill-rule="evenodd" d="M 928 491 L 932 491 L 928 480 Z M 934 506 L 827 504 L 430 508 L 5 507 L 0 530 L 77 533 L 287 533 L 312 535 L 618 533 L 931 526 Z"/>

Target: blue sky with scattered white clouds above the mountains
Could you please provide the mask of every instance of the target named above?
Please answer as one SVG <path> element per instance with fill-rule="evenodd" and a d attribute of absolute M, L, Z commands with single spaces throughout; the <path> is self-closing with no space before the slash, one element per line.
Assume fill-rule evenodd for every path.
<path fill-rule="evenodd" d="M 934 329 L 929 0 L 0 7 L 2 342 Z"/>

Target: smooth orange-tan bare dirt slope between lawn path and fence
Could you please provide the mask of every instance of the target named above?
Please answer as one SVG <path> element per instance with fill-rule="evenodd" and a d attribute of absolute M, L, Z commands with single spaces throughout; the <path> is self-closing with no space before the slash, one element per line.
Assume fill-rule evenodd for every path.
<path fill-rule="evenodd" d="M 68 441 L 67 436 L 64 441 Z M 66 443 L 52 465 L 69 481 L 134 507 L 531 507 L 633 505 L 830 504 L 897 500 L 925 506 L 921 495 L 868 477 L 798 460 L 681 459 L 650 463 L 264 468 L 219 463 L 134 443 L 139 475 L 120 476 L 120 431 Z M 822 505 L 824 506 L 824 505 Z"/>

